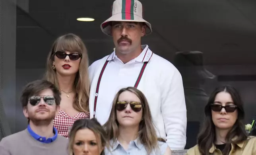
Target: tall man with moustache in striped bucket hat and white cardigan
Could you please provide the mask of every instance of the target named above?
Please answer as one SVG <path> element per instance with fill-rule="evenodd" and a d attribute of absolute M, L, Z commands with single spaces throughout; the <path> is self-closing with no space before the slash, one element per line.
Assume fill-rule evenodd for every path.
<path fill-rule="evenodd" d="M 142 18 L 141 2 L 115 0 L 112 16 L 101 30 L 112 36 L 115 48 L 89 67 L 90 117 L 103 125 L 115 94 L 124 87 L 137 87 L 149 102 L 158 136 L 167 139 L 171 149 L 184 149 L 187 118 L 182 77 L 171 62 L 141 45 L 141 37 L 152 32 Z"/>

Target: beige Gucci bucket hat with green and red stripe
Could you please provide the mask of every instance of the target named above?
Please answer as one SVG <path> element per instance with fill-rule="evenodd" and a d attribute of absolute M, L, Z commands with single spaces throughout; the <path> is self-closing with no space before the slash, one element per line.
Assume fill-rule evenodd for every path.
<path fill-rule="evenodd" d="M 146 35 L 152 32 L 151 24 L 143 19 L 142 3 L 138 0 L 115 0 L 112 6 L 112 16 L 101 24 L 103 33 L 111 36 L 111 21 L 144 22 Z"/>

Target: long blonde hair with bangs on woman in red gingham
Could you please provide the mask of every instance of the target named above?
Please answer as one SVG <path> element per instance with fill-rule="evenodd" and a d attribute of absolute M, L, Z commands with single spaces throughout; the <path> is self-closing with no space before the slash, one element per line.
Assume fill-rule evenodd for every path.
<path fill-rule="evenodd" d="M 77 72 L 74 81 L 76 96 L 73 103 L 73 107 L 78 112 L 89 113 L 89 62 L 85 44 L 79 36 L 72 33 L 60 36 L 54 41 L 47 57 L 47 66 L 44 79 L 54 83 L 54 85 L 59 87 L 58 80 L 56 77 L 56 70 L 52 68 L 52 63 L 54 61 L 54 53 L 56 51 L 76 51 L 79 54 L 81 54 L 82 57 L 80 61 L 79 71 Z"/>

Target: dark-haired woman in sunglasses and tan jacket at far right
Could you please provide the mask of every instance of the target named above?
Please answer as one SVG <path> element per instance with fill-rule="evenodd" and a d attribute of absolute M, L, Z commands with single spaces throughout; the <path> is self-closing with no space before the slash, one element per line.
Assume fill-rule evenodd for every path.
<path fill-rule="evenodd" d="M 256 155 L 256 138 L 246 133 L 243 103 L 234 87 L 213 91 L 197 141 L 187 155 Z"/>

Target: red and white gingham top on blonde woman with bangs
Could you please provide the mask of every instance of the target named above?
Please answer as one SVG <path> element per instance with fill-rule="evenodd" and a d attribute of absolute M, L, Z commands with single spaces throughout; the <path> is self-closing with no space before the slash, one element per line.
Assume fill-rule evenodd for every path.
<path fill-rule="evenodd" d="M 68 138 L 68 133 L 73 123 L 78 119 L 85 118 L 90 118 L 90 115 L 84 112 L 80 112 L 74 117 L 70 117 L 67 113 L 60 110 L 58 116 L 56 116 L 53 120 L 53 126 L 57 129 L 58 134 Z"/>

